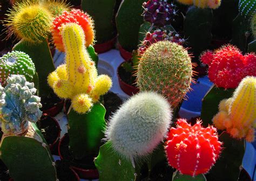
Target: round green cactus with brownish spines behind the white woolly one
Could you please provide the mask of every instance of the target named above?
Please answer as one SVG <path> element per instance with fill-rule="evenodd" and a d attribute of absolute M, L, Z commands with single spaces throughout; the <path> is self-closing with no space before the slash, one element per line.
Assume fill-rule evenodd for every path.
<path fill-rule="evenodd" d="M 170 41 L 152 44 L 140 58 L 137 85 L 141 91 L 155 91 L 177 107 L 190 89 L 192 63 L 183 46 Z"/>

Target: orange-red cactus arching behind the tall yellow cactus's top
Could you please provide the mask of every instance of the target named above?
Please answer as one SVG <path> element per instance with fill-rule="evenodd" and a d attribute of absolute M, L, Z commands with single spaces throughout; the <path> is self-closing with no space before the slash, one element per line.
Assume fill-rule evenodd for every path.
<path fill-rule="evenodd" d="M 61 52 L 64 52 L 64 45 L 63 45 L 63 39 L 62 34 L 60 33 L 60 26 L 66 23 L 76 23 L 80 25 L 83 28 L 83 31 L 85 33 L 85 46 L 88 47 L 89 45 L 93 44 L 95 39 L 95 32 L 93 30 L 93 19 L 87 15 L 87 13 L 78 10 L 78 9 L 72 9 L 70 12 L 64 11 L 62 15 L 57 16 L 53 20 L 52 24 L 52 37 L 53 41 L 55 43 L 55 46 L 57 49 Z"/>

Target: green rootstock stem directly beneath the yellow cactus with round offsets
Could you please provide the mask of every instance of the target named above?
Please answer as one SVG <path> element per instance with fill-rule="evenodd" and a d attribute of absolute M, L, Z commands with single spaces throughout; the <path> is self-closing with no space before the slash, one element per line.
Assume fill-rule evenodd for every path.
<path fill-rule="evenodd" d="M 76 159 L 86 154 L 97 154 L 99 151 L 106 122 L 104 119 L 106 109 L 100 103 L 93 105 L 90 112 L 78 114 L 71 109 L 68 114 L 70 149 Z"/>

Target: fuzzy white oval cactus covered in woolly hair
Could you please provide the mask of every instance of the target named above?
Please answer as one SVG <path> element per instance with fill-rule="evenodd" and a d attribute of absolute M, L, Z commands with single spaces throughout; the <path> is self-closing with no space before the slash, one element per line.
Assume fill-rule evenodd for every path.
<path fill-rule="evenodd" d="M 170 127 L 169 102 L 154 92 L 140 92 L 127 100 L 111 117 L 106 140 L 118 154 L 132 161 L 150 154 Z"/>

